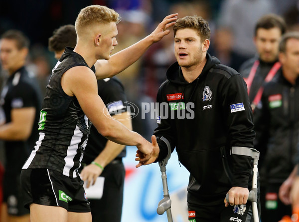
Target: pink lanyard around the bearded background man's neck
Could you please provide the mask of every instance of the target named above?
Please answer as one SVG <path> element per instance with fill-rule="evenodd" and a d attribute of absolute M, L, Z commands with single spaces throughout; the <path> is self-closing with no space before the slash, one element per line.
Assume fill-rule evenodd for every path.
<path fill-rule="evenodd" d="M 257 73 L 257 69 L 259 67 L 259 64 L 260 64 L 260 61 L 259 60 L 256 60 L 250 70 L 250 73 L 249 73 L 249 76 L 247 79 L 245 79 L 245 82 L 247 84 L 247 93 L 249 95 L 249 92 L 250 92 L 250 89 L 251 89 L 251 85 L 252 85 L 252 82 L 253 82 L 253 79 Z M 275 74 L 277 73 L 277 71 L 279 70 L 279 68 L 281 67 L 281 63 L 280 62 L 276 62 L 272 68 L 270 69 L 270 71 L 268 72 L 265 80 L 264 80 L 264 83 L 267 83 L 267 82 L 270 82 L 273 77 L 275 76 Z M 258 105 L 258 103 L 261 101 L 261 98 L 262 98 L 262 94 L 263 94 L 263 91 L 264 91 L 264 87 L 261 86 L 259 91 L 257 92 L 256 96 L 254 97 L 254 100 L 252 102 L 252 110 L 254 110 L 254 108 Z"/>

